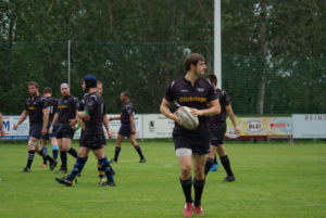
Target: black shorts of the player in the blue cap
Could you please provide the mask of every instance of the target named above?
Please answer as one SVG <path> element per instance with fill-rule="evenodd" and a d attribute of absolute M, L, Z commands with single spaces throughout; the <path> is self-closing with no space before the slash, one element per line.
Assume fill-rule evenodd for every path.
<path fill-rule="evenodd" d="M 86 133 L 80 134 L 80 146 L 85 146 L 90 150 L 100 150 L 106 144 L 104 132 L 100 133 Z"/>

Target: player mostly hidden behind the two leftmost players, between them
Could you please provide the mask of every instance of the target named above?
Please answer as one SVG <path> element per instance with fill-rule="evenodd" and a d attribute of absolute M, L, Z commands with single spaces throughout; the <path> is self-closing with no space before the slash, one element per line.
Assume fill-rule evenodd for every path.
<path fill-rule="evenodd" d="M 48 123 L 48 131 L 50 129 L 50 126 L 52 124 L 57 107 L 58 107 L 58 100 L 52 98 L 52 89 L 50 87 L 46 87 L 43 89 L 43 97 L 47 99 L 48 103 L 49 103 L 49 123 Z M 45 136 L 42 136 L 42 140 L 41 140 L 41 144 L 42 144 L 42 150 L 45 150 L 48 153 L 48 140 L 51 140 L 51 144 L 52 144 L 52 155 L 53 155 L 53 159 L 57 161 L 58 158 L 58 152 L 59 152 L 59 146 L 58 146 L 58 142 L 55 139 L 55 134 L 57 134 L 57 130 L 58 130 L 58 125 L 53 126 L 52 129 L 52 133 L 50 134 L 49 132 L 46 133 Z M 47 159 L 43 158 L 43 163 L 40 165 L 41 167 L 46 167 L 47 166 Z"/>

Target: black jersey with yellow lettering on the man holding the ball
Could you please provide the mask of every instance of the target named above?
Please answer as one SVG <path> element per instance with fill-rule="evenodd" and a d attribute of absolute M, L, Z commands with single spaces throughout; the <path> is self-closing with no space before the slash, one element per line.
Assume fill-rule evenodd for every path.
<path fill-rule="evenodd" d="M 213 86 L 204 78 L 199 78 L 192 86 L 185 77 L 173 81 L 166 89 L 164 99 L 177 106 L 188 106 L 198 110 L 208 108 L 208 104 L 217 99 Z M 198 129 L 208 128 L 208 117 L 199 116 Z M 186 129 L 175 123 L 175 129 Z"/>

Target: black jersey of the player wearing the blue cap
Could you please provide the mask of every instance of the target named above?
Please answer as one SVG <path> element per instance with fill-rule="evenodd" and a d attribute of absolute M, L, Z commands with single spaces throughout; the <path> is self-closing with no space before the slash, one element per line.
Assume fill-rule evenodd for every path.
<path fill-rule="evenodd" d="M 90 120 L 85 121 L 86 133 L 102 133 L 104 100 L 98 92 L 92 92 L 84 97 L 84 102 L 90 116 Z"/>

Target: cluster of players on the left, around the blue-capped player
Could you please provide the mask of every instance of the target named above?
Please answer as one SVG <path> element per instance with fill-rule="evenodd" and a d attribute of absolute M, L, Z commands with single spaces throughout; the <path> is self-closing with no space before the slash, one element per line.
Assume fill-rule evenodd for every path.
<path fill-rule="evenodd" d="M 115 185 L 113 180 L 114 170 L 111 167 L 104 154 L 106 144 L 103 126 L 109 138 L 112 132 L 109 128 L 109 121 L 121 119 L 122 126 L 116 140 L 115 156 L 111 163 L 117 163 L 121 143 L 127 137 L 139 154 L 140 163 L 146 163 L 139 144 L 135 139 L 134 108 L 129 101 L 128 92 L 122 92 L 121 101 L 124 103 L 120 117 L 106 117 L 105 104 L 102 99 L 102 82 L 96 77 L 88 75 L 82 80 L 82 88 L 85 91 L 80 102 L 70 93 L 70 86 L 62 84 L 60 87 L 62 98 L 57 100 L 52 98 L 52 90 L 47 87 L 43 95 L 39 93 L 38 84 L 28 82 L 30 98 L 25 102 L 25 108 L 14 125 L 16 130 L 26 117 L 29 117 L 29 139 L 28 139 L 28 158 L 27 165 L 21 172 L 30 172 L 35 152 L 43 157 L 42 167 L 49 162 L 50 170 L 53 170 L 58 164 L 58 153 L 60 152 L 61 167 L 57 174 L 67 174 L 67 155 L 76 158 L 72 172 L 64 178 L 55 180 L 65 185 L 72 185 L 76 181 L 75 177 L 80 176 L 83 167 L 87 162 L 88 153 L 93 152 L 98 159 L 99 180 L 101 185 Z M 79 151 L 71 146 L 75 130 L 82 128 Z M 39 146 L 41 139 L 42 148 Z M 53 158 L 48 154 L 47 140 L 51 139 Z M 105 176 L 105 177 L 104 177 Z"/>

